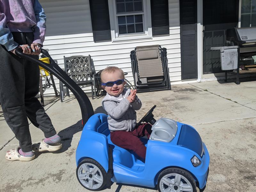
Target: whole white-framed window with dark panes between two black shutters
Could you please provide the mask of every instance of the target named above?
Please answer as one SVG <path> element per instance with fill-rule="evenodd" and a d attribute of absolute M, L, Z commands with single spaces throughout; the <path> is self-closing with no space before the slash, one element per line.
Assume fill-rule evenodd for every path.
<path fill-rule="evenodd" d="M 152 38 L 150 1 L 108 0 L 112 41 Z"/>

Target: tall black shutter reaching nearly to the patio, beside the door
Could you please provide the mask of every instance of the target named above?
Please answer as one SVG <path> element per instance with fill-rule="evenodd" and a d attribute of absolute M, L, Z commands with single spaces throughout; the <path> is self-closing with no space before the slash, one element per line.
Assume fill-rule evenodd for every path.
<path fill-rule="evenodd" d="M 197 78 L 196 0 L 180 0 L 181 79 Z"/>

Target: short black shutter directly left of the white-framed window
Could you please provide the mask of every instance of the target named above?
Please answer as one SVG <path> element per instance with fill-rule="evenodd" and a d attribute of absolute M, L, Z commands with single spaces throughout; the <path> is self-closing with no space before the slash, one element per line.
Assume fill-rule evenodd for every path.
<path fill-rule="evenodd" d="M 90 0 L 93 40 L 111 40 L 108 0 Z"/>

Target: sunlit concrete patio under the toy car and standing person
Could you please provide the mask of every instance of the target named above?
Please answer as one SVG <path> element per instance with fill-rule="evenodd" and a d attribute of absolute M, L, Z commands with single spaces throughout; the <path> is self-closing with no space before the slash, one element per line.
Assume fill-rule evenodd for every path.
<path fill-rule="evenodd" d="M 256 83 L 203 82 L 172 86 L 171 91 L 138 93 L 143 105 L 140 119 L 153 105 L 155 118 L 167 117 L 192 124 L 200 133 L 211 157 L 206 192 L 255 191 L 256 179 Z M 55 98 L 53 98 L 54 100 Z M 91 100 L 91 99 L 90 99 Z M 96 112 L 104 112 L 102 98 L 91 100 Z M 18 140 L 0 114 L 0 191 L 87 191 L 76 179 L 75 150 L 80 139 L 81 112 L 74 97 L 46 106 L 47 114 L 62 138 L 63 148 L 55 153 L 36 153 L 30 162 L 4 158 Z M 2 119 L 1 119 L 2 118 Z M 33 142 L 43 133 L 30 125 Z M 12 139 L 11 141 L 10 138 Z M 1 148 L 1 147 L 0 147 Z M 156 191 L 117 185 L 103 191 Z"/>

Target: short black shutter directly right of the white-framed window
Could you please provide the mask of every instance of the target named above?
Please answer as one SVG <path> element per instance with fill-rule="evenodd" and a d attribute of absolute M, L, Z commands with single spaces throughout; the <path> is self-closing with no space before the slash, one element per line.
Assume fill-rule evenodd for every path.
<path fill-rule="evenodd" d="M 152 35 L 169 35 L 168 0 L 151 0 Z"/>

